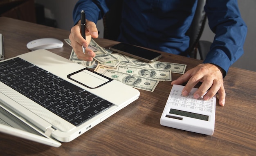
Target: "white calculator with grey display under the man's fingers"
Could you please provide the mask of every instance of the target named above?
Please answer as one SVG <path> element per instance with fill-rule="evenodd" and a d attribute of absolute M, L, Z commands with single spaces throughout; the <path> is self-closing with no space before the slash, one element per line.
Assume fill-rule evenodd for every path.
<path fill-rule="evenodd" d="M 195 99 L 193 88 L 189 96 L 182 96 L 182 85 L 173 85 L 160 124 L 200 134 L 213 135 L 215 123 L 216 95 L 209 100 Z"/>

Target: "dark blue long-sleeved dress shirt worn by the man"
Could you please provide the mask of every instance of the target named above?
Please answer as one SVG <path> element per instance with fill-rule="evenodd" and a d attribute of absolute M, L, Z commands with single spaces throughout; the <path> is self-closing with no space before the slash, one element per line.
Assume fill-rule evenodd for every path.
<path fill-rule="evenodd" d="M 84 10 L 86 19 L 97 23 L 115 0 L 79 0 L 73 11 L 74 23 Z M 189 47 L 189 29 L 197 0 L 124 0 L 120 42 L 182 54 Z M 243 54 L 247 26 L 237 0 L 207 0 L 204 10 L 209 27 L 216 34 L 204 63 L 229 67 Z"/>

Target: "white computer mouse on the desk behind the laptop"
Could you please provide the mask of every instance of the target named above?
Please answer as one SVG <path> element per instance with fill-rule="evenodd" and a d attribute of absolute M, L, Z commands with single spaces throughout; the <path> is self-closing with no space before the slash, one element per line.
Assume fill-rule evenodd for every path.
<path fill-rule="evenodd" d="M 40 38 L 27 43 L 27 49 L 54 49 L 63 47 L 63 42 L 56 38 Z"/>

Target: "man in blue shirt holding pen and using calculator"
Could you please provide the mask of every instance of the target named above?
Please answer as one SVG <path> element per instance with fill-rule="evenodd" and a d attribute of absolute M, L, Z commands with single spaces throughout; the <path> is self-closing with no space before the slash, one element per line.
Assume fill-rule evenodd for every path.
<path fill-rule="evenodd" d="M 96 23 L 103 18 L 116 0 L 79 0 L 73 11 L 74 27 L 71 29 L 72 47 L 81 60 L 92 61 L 92 50 L 86 49 L 91 38 L 98 37 Z M 128 42 L 159 51 L 182 55 L 189 47 L 185 35 L 195 13 L 197 0 L 124 0 L 122 21 L 118 41 Z M 86 40 L 81 36 L 80 12 L 86 14 Z M 243 54 L 247 33 L 245 22 L 240 16 L 237 0 L 207 0 L 204 10 L 211 30 L 216 34 L 204 62 L 187 71 L 171 84 L 186 81 L 182 94 L 187 96 L 191 89 L 202 82 L 194 98 L 204 95 L 208 100 L 218 92 L 219 105 L 225 105 L 223 78 L 229 67 Z"/>

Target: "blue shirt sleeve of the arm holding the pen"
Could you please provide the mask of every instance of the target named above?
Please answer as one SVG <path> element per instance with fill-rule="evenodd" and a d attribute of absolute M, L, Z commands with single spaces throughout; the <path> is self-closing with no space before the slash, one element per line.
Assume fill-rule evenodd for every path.
<path fill-rule="evenodd" d="M 79 0 L 73 10 L 74 25 L 80 20 L 81 10 L 85 11 L 86 19 L 97 23 L 108 12 L 108 0 Z"/>

